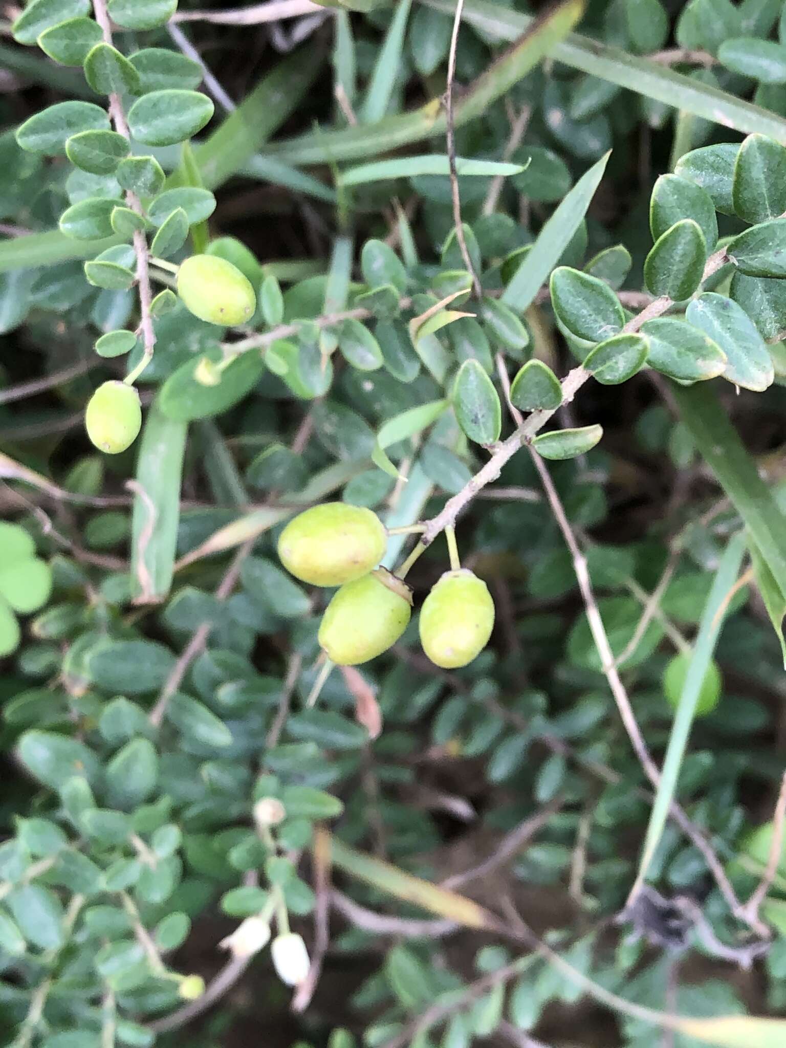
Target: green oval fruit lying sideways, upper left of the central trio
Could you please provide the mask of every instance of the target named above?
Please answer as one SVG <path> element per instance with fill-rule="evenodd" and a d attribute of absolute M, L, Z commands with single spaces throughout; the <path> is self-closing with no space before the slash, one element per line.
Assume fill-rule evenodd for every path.
<path fill-rule="evenodd" d="M 287 524 L 279 539 L 279 558 L 301 582 L 343 586 L 376 567 L 387 543 L 385 526 L 370 509 L 325 502 Z"/>

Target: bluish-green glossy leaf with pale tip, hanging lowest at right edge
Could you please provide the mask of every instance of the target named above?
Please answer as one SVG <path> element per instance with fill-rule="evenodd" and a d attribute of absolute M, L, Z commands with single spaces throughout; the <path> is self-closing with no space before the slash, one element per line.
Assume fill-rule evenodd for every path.
<path fill-rule="evenodd" d="M 736 302 L 705 291 L 689 305 L 685 319 L 709 335 L 726 354 L 724 378 L 758 392 L 772 384 L 772 357 L 756 325 Z"/>

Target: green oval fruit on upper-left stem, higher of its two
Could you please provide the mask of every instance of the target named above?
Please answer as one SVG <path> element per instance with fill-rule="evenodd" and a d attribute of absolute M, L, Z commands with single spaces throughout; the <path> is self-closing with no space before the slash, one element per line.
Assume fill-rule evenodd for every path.
<path fill-rule="evenodd" d="M 213 255 L 192 255 L 177 270 L 177 293 L 185 306 L 209 324 L 245 324 L 257 309 L 250 282 L 237 266 Z"/>

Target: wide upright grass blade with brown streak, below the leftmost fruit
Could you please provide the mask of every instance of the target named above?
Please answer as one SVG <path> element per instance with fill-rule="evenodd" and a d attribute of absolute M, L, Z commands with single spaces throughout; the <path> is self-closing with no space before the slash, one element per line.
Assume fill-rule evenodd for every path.
<path fill-rule="evenodd" d="M 170 591 L 180 520 L 185 422 L 173 422 L 150 406 L 139 443 L 131 522 L 132 593 L 156 604 Z"/>

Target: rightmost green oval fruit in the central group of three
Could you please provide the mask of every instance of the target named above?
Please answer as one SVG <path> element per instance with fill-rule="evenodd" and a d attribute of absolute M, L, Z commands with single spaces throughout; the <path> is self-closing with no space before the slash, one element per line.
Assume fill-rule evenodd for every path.
<path fill-rule="evenodd" d="M 494 629 L 494 601 L 482 578 L 445 571 L 420 610 L 420 643 L 436 665 L 457 670 L 483 651 Z"/>

